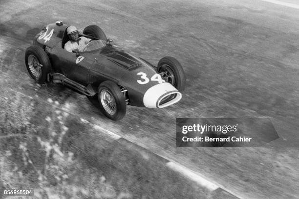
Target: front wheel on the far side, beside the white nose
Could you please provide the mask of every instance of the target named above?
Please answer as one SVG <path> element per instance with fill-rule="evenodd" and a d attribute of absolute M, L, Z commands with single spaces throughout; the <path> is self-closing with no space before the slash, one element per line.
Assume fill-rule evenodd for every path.
<path fill-rule="evenodd" d="M 185 72 L 178 60 L 172 57 L 162 58 L 158 63 L 157 72 L 177 90 L 184 90 L 186 83 Z"/>

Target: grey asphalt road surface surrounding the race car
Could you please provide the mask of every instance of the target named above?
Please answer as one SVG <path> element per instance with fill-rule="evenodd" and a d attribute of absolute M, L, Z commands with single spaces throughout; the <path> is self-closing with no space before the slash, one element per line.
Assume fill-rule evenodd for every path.
<path fill-rule="evenodd" d="M 290 6 L 295 0 L 284 2 L 290 4 L 1 0 L 0 92 L 8 97 L 0 98 L 9 101 L 17 93 L 67 103 L 78 119 L 175 160 L 241 198 L 297 199 L 299 10 Z M 115 43 L 155 64 L 175 57 L 187 76 L 182 100 L 165 109 L 129 106 L 126 117 L 114 122 L 71 89 L 36 85 L 26 73 L 24 51 L 43 25 L 56 20 L 80 30 L 96 24 Z M 270 118 L 280 138 L 260 148 L 175 146 L 176 118 L 241 117 Z"/>

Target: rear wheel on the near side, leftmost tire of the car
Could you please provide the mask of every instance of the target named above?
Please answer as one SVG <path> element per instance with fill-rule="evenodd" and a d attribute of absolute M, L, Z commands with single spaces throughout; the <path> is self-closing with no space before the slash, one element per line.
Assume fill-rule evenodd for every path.
<path fill-rule="evenodd" d="M 51 62 L 42 47 L 38 45 L 28 47 L 25 52 L 25 63 L 31 78 L 38 83 L 46 82 L 47 75 L 51 72 Z"/>

